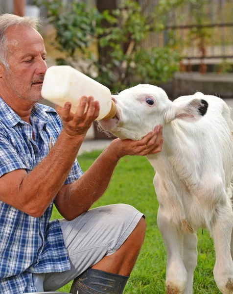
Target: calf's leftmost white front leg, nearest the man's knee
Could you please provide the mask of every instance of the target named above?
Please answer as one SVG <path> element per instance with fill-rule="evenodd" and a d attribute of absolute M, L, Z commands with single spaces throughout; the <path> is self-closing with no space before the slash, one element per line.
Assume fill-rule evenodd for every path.
<path fill-rule="evenodd" d="M 157 223 L 167 252 L 166 294 L 185 294 L 187 271 L 183 262 L 184 236 L 164 208 L 159 207 Z"/>

